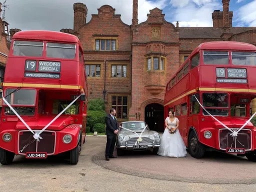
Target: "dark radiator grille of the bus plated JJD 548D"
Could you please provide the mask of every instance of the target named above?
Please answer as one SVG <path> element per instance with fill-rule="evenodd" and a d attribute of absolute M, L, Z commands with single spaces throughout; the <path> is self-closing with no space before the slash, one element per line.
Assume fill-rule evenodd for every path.
<path fill-rule="evenodd" d="M 39 130 L 37 132 L 39 132 Z M 19 131 L 18 136 L 19 154 L 25 154 L 26 152 L 47 152 L 47 154 L 53 154 L 55 151 L 56 133 L 54 131 L 47 130 L 41 132 L 40 136 L 42 138 L 39 138 L 39 142 L 37 140 L 32 142 L 34 138 L 33 133 L 31 133 L 30 131 Z M 27 146 L 23 149 L 25 145 Z"/>

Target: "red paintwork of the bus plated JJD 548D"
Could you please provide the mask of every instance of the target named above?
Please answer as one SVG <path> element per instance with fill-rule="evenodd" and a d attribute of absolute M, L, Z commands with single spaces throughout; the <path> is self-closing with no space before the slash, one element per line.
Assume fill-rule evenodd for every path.
<path fill-rule="evenodd" d="M 15 40 L 33 40 L 33 41 L 43 41 L 43 54 L 41 57 L 27 57 L 27 56 L 15 56 L 13 52 L 13 42 Z M 76 53 L 74 59 L 61 59 L 61 58 L 47 58 L 46 57 L 46 42 L 59 42 L 59 43 L 74 43 L 76 45 Z M 47 125 L 56 114 L 52 113 L 52 105 L 54 99 L 70 100 L 71 94 L 79 95 L 84 91 L 87 98 L 87 81 L 85 76 L 85 69 L 83 64 L 83 54 L 79 59 L 79 50 L 82 52 L 82 45 L 79 39 L 71 34 L 56 32 L 56 31 L 19 31 L 15 33 L 12 37 L 12 43 L 10 46 L 10 51 L 7 58 L 7 63 L 5 67 L 4 83 L 34 83 L 34 84 L 56 84 L 56 85 L 77 85 L 77 88 L 65 89 L 65 88 L 41 88 L 38 86 L 29 87 L 36 90 L 36 102 L 35 102 L 35 114 L 33 116 L 21 116 L 23 120 L 28 124 L 31 129 L 42 129 Z M 60 79 L 52 78 L 26 78 L 24 77 L 24 67 L 25 60 L 32 59 L 36 60 L 36 71 L 38 71 L 38 61 L 39 60 L 50 60 L 50 61 L 60 61 Z M 54 72 L 53 72 L 54 73 Z M 78 87 L 80 87 L 78 89 Z M 6 88 L 17 88 L 3 86 L 3 93 Z M 21 87 L 23 88 L 23 87 Z M 28 88 L 28 87 L 25 87 Z M 43 101 L 44 114 L 38 113 L 38 100 L 39 100 L 39 90 L 43 92 L 40 93 L 40 98 Z M 68 151 L 77 145 L 77 138 L 80 131 L 79 124 L 82 124 L 82 141 L 85 137 L 85 125 L 86 125 L 86 111 L 87 111 L 87 100 L 79 101 L 79 114 L 77 115 L 60 115 L 46 130 L 54 130 L 56 132 L 56 146 L 54 154 L 58 154 L 64 151 Z M 18 154 L 18 132 L 20 130 L 27 130 L 25 125 L 17 118 L 16 115 L 6 115 L 4 114 L 4 105 L 1 111 L 0 117 L 0 147 Z M 19 105 L 20 106 L 20 105 Z M 48 114 L 47 114 L 47 113 Z M 5 119 L 5 120 L 3 120 Z M 9 132 L 12 135 L 10 142 L 4 142 L 2 135 L 5 132 Z M 65 134 L 72 135 L 72 141 L 65 144 L 62 141 L 62 137 Z M 43 139 L 40 140 L 43 142 Z"/>

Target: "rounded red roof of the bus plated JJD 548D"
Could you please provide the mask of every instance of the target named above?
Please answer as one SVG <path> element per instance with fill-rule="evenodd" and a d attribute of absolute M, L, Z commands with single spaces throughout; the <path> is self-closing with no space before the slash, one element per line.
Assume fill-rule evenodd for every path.
<path fill-rule="evenodd" d="M 27 39 L 34 39 L 34 40 L 54 40 L 54 41 L 63 41 L 63 42 L 73 42 L 79 43 L 79 39 L 77 36 L 58 32 L 58 31 L 51 31 L 51 30 L 27 30 L 27 31 L 19 31 L 16 32 L 12 38 L 27 38 Z"/>

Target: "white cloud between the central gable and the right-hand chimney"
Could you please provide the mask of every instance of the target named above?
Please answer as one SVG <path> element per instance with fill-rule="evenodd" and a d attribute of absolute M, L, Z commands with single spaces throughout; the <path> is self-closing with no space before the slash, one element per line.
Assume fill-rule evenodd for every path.
<path fill-rule="evenodd" d="M 220 9 L 222 4 L 217 0 L 171 0 L 176 6 L 173 13 L 173 24 L 179 21 L 179 26 L 207 27 L 212 26 L 211 12 Z"/>

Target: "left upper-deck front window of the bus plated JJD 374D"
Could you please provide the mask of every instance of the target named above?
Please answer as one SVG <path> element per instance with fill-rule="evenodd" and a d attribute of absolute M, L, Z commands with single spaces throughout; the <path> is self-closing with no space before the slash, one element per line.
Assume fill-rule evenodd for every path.
<path fill-rule="evenodd" d="M 203 51 L 204 64 L 228 64 L 228 51 Z"/>

